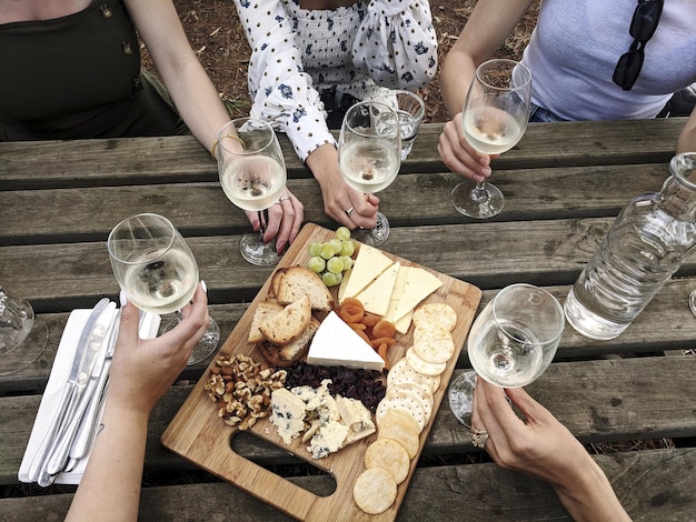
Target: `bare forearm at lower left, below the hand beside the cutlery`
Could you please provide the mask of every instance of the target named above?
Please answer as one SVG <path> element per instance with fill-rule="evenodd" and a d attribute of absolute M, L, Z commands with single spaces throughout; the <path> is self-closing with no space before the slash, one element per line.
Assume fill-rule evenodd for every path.
<path fill-rule="evenodd" d="M 107 403 L 67 521 L 135 521 L 148 431 L 148 415 Z"/>

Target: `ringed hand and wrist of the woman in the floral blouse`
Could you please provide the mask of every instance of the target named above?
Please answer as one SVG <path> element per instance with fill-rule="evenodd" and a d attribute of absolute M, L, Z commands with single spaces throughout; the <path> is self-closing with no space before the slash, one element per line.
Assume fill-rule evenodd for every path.
<path fill-rule="evenodd" d="M 348 187 L 340 173 L 338 151 L 334 145 L 319 147 L 306 162 L 321 187 L 324 211 L 329 218 L 350 230 L 375 228 L 379 198 Z"/>

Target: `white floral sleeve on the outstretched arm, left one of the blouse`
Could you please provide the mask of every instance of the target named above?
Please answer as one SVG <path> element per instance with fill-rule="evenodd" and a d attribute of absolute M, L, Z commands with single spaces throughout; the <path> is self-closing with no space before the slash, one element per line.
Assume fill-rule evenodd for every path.
<path fill-rule="evenodd" d="M 305 161 L 325 143 L 336 144 L 311 77 L 302 71 L 292 23 L 278 0 L 235 0 L 246 31 L 249 60 L 250 116 L 285 132 Z"/>

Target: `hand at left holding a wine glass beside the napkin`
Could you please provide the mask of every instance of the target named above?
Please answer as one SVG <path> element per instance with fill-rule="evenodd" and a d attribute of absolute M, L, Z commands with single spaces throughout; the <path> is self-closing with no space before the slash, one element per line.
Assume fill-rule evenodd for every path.
<path fill-rule="evenodd" d="M 152 408 L 186 368 L 191 350 L 203 337 L 210 318 L 203 283 L 192 304 L 181 309 L 182 321 L 155 339 L 140 339 L 138 309 L 121 307 L 121 322 L 109 374 L 109 401 L 117 408 L 149 416 Z"/>

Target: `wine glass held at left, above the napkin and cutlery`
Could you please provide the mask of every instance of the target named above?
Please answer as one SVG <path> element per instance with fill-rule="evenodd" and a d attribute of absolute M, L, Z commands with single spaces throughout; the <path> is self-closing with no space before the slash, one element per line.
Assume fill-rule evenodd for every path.
<path fill-rule="evenodd" d="M 173 328 L 181 320 L 181 308 L 196 293 L 198 265 L 171 221 L 153 213 L 133 215 L 111 230 L 107 247 L 113 273 L 128 300 L 146 312 L 177 313 L 165 331 Z M 207 359 L 219 340 L 220 328 L 210 318 L 188 364 Z"/>

